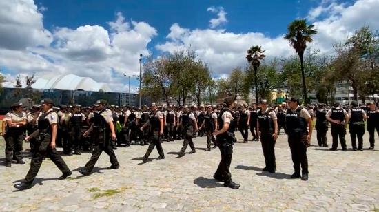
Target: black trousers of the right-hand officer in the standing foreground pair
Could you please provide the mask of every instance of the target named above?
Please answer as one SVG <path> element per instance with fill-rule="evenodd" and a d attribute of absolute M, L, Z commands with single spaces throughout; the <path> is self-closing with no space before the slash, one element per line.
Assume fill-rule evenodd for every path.
<path fill-rule="evenodd" d="M 307 135 L 288 134 L 289 149 L 291 149 L 292 162 L 294 162 L 294 170 L 300 173 L 308 173 L 308 158 L 307 158 Z"/>

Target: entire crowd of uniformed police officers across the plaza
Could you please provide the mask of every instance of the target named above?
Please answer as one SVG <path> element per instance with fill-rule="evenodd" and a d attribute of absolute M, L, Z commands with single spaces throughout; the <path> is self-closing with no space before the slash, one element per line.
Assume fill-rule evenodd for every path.
<path fill-rule="evenodd" d="M 379 112 L 376 105 L 368 103 L 365 107 L 359 107 L 355 101 L 348 109 L 340 107 L 338 103 L 333 107 L 323 104 L 302 107 L 298 98 L 270 107 L 267 100 L 260 100 L 258 109 L 255 104 L 251 107 L 236 105 L 232 97 L 227 97 L 220 105 L 158 107 L 153 103 L 150 107 L 143 105 L 138 109 L 107 105 L 106 100 L 97 100 L 92 107 L 53 107 L 52 100 L 44 99 L 30 111 L 23 109 L 20 103 L 15 103 L 11 109 L 2 122 L 2 136 L 6 140 L 6 167 L 11 167 L 14 160 L 17 164 L 25 164 L 22 155 L 23 140 L 30 143 L 32 153 L 30 170 L 24 182 L 14 184 L 17 189 L 32 186 L 45 157 L 49 157 L 62 171 L 60 179 L 72 174 L 56 147 L 63 147 L 63 153 L 68 156 L 80 155 L 82 151 L 92 153 L 90 160 L 79 169 L 81 174 L 89 175 L 103 151 L 110 157 L 111 165 L 108 169 L 118 169 L 119 162 L 114 153 L 117 147 L 130 147 L 132 143 L 148 145 L 143 156 L 143 162 L 147 162 L 154 147 L 159 153 L 158 159 L 165 158 L 163 141 L 183 140 L 183 147 L 178 153 L 179 157 L 183 157 L 188 146 L 191 149 L 189 153 L 196 153 L 192 138 L 205 136 L 205 151 L 218 147 L 221 152 L 221 162 L 214 178 L 223 181 L 225 187 L 238 189 L 239 185 L 232 181 L 229 171 L 233 145 L 237 142 L 236 131 L 240 131 L 243 142 L 249 140 L 248 131 L 253 136 L 252 141 L 260 140 L 265 157 L 263 171 L 275 173 L 274 147 L 280 129 L 284 129 L 294 163 L 291 178 L 302 180 L 308 180 L 309 175 L 307 147 L 310 146 L 314 118 L 319 146 L 328 147 L 326 134 L 331 129 L 331 151 L 337 150 L 338 139 L 342 151 L 347 151 L 347 125 L 354 151 L 363 149 L 365 120 L 370 149 L 375 145 L 375 131 L 379 135 Z"/>

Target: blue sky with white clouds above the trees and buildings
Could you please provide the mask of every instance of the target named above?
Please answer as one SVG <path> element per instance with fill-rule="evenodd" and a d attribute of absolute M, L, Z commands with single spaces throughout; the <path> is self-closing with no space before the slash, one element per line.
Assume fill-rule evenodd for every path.
<path fill-rule="evenodd" d="M 0 67 L 8 81 L 76 74 L 125 91 L 123 74 L 139 74 L 140 53 L 191 47 L 225 77 L 245 67 L 252 45 L 262 45 L 267 61 L 295 54 L 283 39 L 294 19 L 316 25 L 309 47 L 334 54 L 333 44 L 363 25 L 379 30 L 378 8 L 379 0 L 0 1 Z"/>

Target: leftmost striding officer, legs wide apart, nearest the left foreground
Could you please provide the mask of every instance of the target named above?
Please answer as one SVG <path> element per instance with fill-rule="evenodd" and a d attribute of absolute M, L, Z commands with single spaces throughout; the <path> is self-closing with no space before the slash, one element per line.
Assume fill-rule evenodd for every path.
<path fill-rule="evenodd" d="M 32 187 L 34 178 L 37 176 L 39 168 L 41 167 L 43 158 L 48 156 L 52 162 L 62 171 L 62 176 L 59 180 L 63 180 L 72 174 L 72 171 L 68 169 L 64 160 L 61 158 L 57 149 L 55 149 L 55 139 L 57 138 L 57 124 L 58 116 L 52 110 L 52 100 L 45 98 L 41 103 L 41 110 L 43 113 L 38 118 L 38 130 L 33 134 L 39 134 L 39 146 L 38 151 L 32 156 L 30 162 L 30 169 L 25 177 L 25 181 L 20 184 L 14 184 L 16 189 L 29 189 Z M 28 136 L 31 137 L 32 135 Z M 26 140 L 28 140 L 28 137 Z"/>

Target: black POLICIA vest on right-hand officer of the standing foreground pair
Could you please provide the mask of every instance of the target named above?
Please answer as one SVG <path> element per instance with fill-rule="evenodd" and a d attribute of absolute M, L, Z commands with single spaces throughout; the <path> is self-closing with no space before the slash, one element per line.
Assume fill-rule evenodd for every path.
<path fill-rule="evenodd" d="M 303 107 L 299 107 L 294 112 L 291 109 L 287 110 L 287 114 L 285 115 L 287 134 L 308 134 L 307 120 L 300 117 L 301 109 L 303 109 Z"/>

